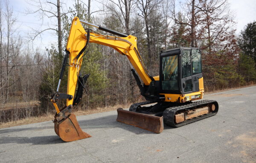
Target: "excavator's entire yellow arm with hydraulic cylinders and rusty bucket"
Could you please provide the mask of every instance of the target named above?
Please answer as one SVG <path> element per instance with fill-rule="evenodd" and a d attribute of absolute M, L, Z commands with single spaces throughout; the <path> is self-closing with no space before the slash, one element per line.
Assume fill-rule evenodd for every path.
<path fill-rule="evenodd" d="M 86 31 L 84 27 L 81 25 L 81 23 L 99 28 L 103 31 L 107 31 L 112 34 L 119 35 L 121 37 L 103 35 L 96 31 L 92 31 L 90 29 L 87 29 Z M 79 20 L 78 17 L 75 17 L 73 19 L 73 22 L 70 28 L 70 34 L 69 34 L 67 47 L 66 47 L 66 55 L 62 63 L 63 67 L 61 69 L 57 92 L 51 98 L 51 101 L 56 110 L 56 115 L 54 120 L 55 132 L 57 135 L 60 136 L 60 138 L 63 141 L 75 141 L 75 140 L 90 137 L 89 134 L 81 130 L 76 120 L 76 116 L 71 113 L 73 109 L 73 105 L 76 105 L 80 101 L 82 96 L 82 90 L 84 88 L 84 83 L 89 77 L 88 74 L 83 77 L 79 75 L 80 74 L 79 71 L 81 69 L 81 65 L 83 61 L 83 56 L 87 53 L 85 51 L 87 49 L 89 42 L 109 46 L 111 48 L 114 48 L 120 54 L 125 55 L 128 58 L 129 62 L 131 63 L 131 67 L 134 67 L 134 69 L 140 76 L 145 86 L 149 86 L 152 81 L 158 78 L 157 76 L 151 77 L 148 74 L 145 68 L 145 65 L 143 63 L 143 60 L 140 56 L 140 53 L 137 51 L 136 37 L 132 35 L 126 36 L 125 34 L 121 34 L 119 32 L 110 30 L 108 28 L 104 28 L 104 27 L 90 24 L 88 22 L 84 22 L 82 20 Z M 65 67 L 67 66 L 68 66 L 67 94 L 59 93 L 58 91 L 60 88 L 61 79 L 63 77 Z M 134 69 L 132 68 L 132 73 L 134 74 L 137 84 L 139 85 L 140 90 L 143 94 L 145 93 L 145 90 L 143 90 L 143 86 L 140 84 L 140 79 L 138 78 Z M 78 89 L 76 90 L 77 84 L 78 84 Z M 76 93 L 76 97 L 75 97 L 75 93 Z M 56 102 L 60 99 L 67 100 L 66 106 L 62 109 L 59 109 L 58 105 L 56 104 Z M 118 110 L 118 113 L 120 115 L 124 114 L 122 110 Z M 131 115 L 128 115 L 128 116 L 131 116 Z M 134 116 L 138 117 L 138 115 L 134 115 Z M 138 117 L 138 119 L 140 119 L 140 117 Z M 159 118 L 155 118 L 155 119 L 157 121 L 156 123 L 158 123 L 158 121 L 160 122 Z M 148 120 L 148 118 L 146 118 L 145 120 Z M 122 118 L 122 120 L 120 120 L 119 118 L 119 121 L 125 121 L 125 119 Z M 161 120 L 161 122 L 162 121 L 163 120 Z"/>

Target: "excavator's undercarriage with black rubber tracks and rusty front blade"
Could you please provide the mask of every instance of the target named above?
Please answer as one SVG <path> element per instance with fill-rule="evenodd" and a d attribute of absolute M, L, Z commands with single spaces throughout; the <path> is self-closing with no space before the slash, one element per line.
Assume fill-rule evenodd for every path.
<path fill-rule="evenodd" d="M 217 114 L 218 103 L 214 100 L 186 103 L 145 101 L 132 104 L 129 111 L 118 109 L 117 112 L 119 122 L 160 133 L 163 123 L 180 127 Z"/>

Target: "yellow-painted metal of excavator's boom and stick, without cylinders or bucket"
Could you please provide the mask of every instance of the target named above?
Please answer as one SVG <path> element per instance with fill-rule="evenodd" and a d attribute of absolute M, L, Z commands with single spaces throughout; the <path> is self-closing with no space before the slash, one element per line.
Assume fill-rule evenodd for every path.
<path fill-rule="evenodd" d="M 73 19 L 70 34 L 67 42 L 67 51 L 70 52 L 69 56 L 69 70 L 68 70 L 68 83 L 67 83 L 67 94 L 74 96 L 76 91 L 77 78 L 82 63 L 82 55 L 78 60 L 76 56 L 84 48 L 87 41 L 87 32 L 84 30 L 78 17 Z M 105 36 L 102 34 L 96 34 L 90 32 L 89 42 L 94 42 L 101 45 L 106 45 L 114 48 L 119 53 L 127 56 L 140 78 L 143 80 L 145 85 L 149 85 L 151 79 L 145 70 L 140 53 L 137 51 L 137 38 L 129 35 L 128 37 L 113 37 Z M 157 78 L 156 78 L 157 79 Z M 159 77 L 158 77 L 159 80 Z M 73 99 L 67 99 L 67 106 L 73 104 Z"/>

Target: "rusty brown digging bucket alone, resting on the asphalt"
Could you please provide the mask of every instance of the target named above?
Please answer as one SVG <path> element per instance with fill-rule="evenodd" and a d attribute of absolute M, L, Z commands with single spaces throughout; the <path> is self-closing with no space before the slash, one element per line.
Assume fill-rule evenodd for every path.
<path fill-rule="evenodd" d="M 67 118 L 61 121 L 54 121 L 54 129 L 56 134 L 66 142 L 91 137 L 89 134 L 82 131 L 76 120 L 76 115 L 74 114 L 68 115 Z"/>

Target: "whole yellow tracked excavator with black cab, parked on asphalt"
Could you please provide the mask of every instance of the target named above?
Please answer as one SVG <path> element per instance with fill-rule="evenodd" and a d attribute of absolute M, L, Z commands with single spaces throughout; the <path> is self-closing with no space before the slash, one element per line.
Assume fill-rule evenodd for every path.
<path fill-rule="evenodd" d="M 83 25 L 92 26 L 111 33 L 108 36 L 84 29 Z M 89 43 L 109 46 L 124 55 L 131 66 L 131 72 L 145 97 L 145 102 L 132 104 L 129 110 L 117 109 L 116 121 L 137 126 L 151 132 L 160 133 L 164 124 L 180 127 L 215 115 L 218 102 L 199 100 L 204 96 L 201 51 L 198 48 L 175 48 L 160 52 L 159 76 L 151 76 L 137 50 L 137 38 L 111 29 L 94 25 L 74 17 L 67 40 L 66 54 L 63 59 L 56 93 L 51 102 L 55 107 L 55 133 L 65 142 L 91 137 L 80 128 L 73 106 L 81 101 L 85 83 L 89 74 L 81 75 L 83 57 L 88 53 Z M 59 88 L 65 67 L 68 67 L 67 93 L 60 93 Z M 56 104 L 66 99 L 66 106 L 59 109 Z M 199 101 L 195 101 L 199 100 Z"/>

